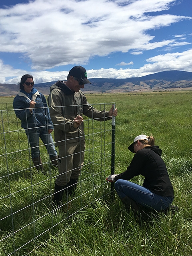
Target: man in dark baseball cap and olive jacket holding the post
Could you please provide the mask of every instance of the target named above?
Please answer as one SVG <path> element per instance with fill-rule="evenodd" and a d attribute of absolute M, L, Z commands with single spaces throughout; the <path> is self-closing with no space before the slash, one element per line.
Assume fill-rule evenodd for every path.
<path fill-rule="evenodd" d="M 117 116 L 114 106 L 109 111 L 93 108 L 80 90 L 85 84 L 91 84 L 86 69 L 74 66 L 67 81 L 58 81 L 50 87 L 48 104 L 54 124 L 54 138 L 59 149 L 59 175 L 54 186 L 53 203 L 62 206 L 62 197 L 74 194 L 80 170 L 84 162 L 85 134 L 83 115 L 99 121 L 110 120 Z"/>

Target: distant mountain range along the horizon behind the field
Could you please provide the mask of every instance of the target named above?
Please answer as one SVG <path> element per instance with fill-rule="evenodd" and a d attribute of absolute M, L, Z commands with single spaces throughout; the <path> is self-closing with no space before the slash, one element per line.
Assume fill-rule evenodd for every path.
<path fill-rule="evenodd" d="M 84 93 L 192 90 L 192 72 L 178 70 L 135 78 L 91 78 L 89 80 L 92 84 L 85 85 L 82 89 Z M 44 95 L 48 95 L 50 86 L 55 82 L 35 84 L 35 88 Z M 0 84 L 0 96 L 14 96 L 18 91 L 19 86 L 16 84 Z"/>

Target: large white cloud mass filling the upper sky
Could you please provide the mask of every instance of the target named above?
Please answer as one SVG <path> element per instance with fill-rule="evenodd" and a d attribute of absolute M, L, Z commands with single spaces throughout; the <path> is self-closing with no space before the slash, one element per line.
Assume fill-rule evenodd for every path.
<path fill-rule="evenodd" d="M 1 52 L 22 53 L 26 64 L 46 70 L 87 64 L 111 52 L 141 53 L 176 46 L 155 42 L 148 30 L 176 23 L 184 16 L 146 15 L 167 10 L 174 0 L 35 0 L 0 10 Z M 151 42 L 153 40 L 153 42 Z M 183 42 L 187 44 L 187 42 Z"/>

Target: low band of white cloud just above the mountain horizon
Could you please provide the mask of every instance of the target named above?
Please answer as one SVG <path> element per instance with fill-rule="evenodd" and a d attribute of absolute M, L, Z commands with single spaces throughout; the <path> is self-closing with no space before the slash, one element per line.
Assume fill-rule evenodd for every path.
<path fill-rule="evenodd" d="M 140 77 L 148 74 L 164 70 L 183 70 L 192 72 L 192 49 L 179 53 L 168 53 L 164 55 L 154 56 L 147 59 L 148 64 L 138 68 L 101 68 L 98 70 L 87 70 L 88 78 L 130 78 Z M 17 84 L 20 81 L 23 74 L 28 74 L 27 70 L 13 70 L 8 65 L 3 65 L 0 61 L 0 80 L 4 83 Z M 6 80 L 2 74 L 12 74 L 12 77 Z M 65 80 L 68 75 L 68 71 L 62 72 L 49 72 L 49 71 L 35 71 L 33 72 L 35 83 L 51 82 L 57 80 Z"/>

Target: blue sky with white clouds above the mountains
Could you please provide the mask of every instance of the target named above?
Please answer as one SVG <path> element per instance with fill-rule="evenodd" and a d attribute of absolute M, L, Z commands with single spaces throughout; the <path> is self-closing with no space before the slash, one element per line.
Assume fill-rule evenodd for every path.
<path fill-rule="evenodd" d="M 0 83 L 192 72 L 191 0 L 1 0 Z"/>

